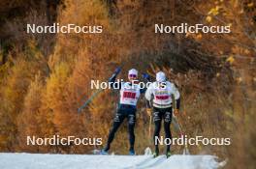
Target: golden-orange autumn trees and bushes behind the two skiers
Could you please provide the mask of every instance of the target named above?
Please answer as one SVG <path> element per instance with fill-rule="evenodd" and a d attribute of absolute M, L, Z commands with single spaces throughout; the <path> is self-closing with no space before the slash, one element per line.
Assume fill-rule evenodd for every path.
<path fill-rule="evenodd" d="M 152 76 L 157 70 L 167 73 L 181 91 L 179 119 L 187 135 L 232 138 L 228 147 L 191 146 L 192 154 L 228 157 L 230 168 L 244 168 L 245 163 L 248 168 L 255 166 L 254 1 L 65 0 L 41 8 L 33 2 L 26 14 L 2 15 L 8 21 L 0 18 L 5 25 L 0 31 L 7 35 L 1 37 L 0 45 L 1 152 L 85 154 L 93 149 L 27 146 L 27 135 L 102 137 L 105 143 L 118 91 L 104 91 L 80 114 L 78 108 L 95 92 L 90 89 L 91 79 L 106 81 L 122 66 L 118 77 L 124 79 L 131 68 Z M 0 10 L 7 14 L 9 6 L 4 5 L 7 8 Z M 22 23 L 33 20 L 102 25 L 104 31 L 98 35 L 24 35 Z M 182 22 L 228 25 L 231 33 L 154 34 L 155 23 Z M 15 25 L 16 29 L 8 29 Z M 137 153 L 143 154 L 145 147 L 152 146 L 144 99 L 137 115 L 135 145 Z M 112 151 L 127 154 L 126 138 L 126 128 L 121 127 Z M 180 153 L 180 147 L 173 150 Z"/>

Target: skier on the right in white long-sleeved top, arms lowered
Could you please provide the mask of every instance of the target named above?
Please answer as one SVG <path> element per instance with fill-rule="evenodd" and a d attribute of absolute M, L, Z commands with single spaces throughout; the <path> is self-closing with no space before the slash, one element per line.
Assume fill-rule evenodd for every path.
<path fill-rule="evenodd" d="M 176 102 L 172 102 L 172 96 L 175 96 Z M 153 141 L 155 145 L 154 156 L 159 155 L 159 148 L 155 138 L 159 138 L 161 122 L 164 121 L 165 137 L 172 139 L 171 123 L 173 112 L 178 113 L 180 104 L 180 95 L 176 89 L 176 85 L 166 80 L 166 75 L 163 71 L 156 73 L 156 81 L 151 83 L 145 92 L 147 114 L 151 115 L 151 107 L 153 108 L 153 122 L 155 125 Z M 176 103 L 176 110 L 173 110 L 173 104 Z M 166 147 L 166 155 L 171 155 L 170 145 Z"/>

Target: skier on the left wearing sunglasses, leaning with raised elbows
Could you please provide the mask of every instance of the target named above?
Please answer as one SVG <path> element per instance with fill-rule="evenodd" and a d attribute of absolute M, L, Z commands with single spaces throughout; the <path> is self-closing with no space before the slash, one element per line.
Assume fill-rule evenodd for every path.
<path fill-rule="evenodd" d="M 115 78 L 120 70 L 115 70 L 110 82 L 114 82 Z M 117 72 L 117 73 L 116 73 Z M 136 123 L 136 105 L 137 101 L 140 98 L 140 95 L 145 92 L 145 89 L 140 88 L 138 83 L 138 70 L 132 69 L 128 72 L 128 82 L 112 83 L 112 88 L 118 88 L 120 90 L 120 99 L 118 102 L 117 111 L 113 119 L 112 128 L 109 133 L 108 141 L 106 147 L 101 151 L 102 155 L 108 154 L 114 134 L 117 131 L 118 127 L 122 124 L 124 119 L 128 121 L 128 130 L 129 130 L 129 155 L 135 155 L 134 143 L 135 143 L 135 134 L 134 127 Z"/>

